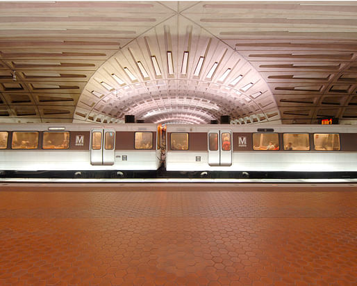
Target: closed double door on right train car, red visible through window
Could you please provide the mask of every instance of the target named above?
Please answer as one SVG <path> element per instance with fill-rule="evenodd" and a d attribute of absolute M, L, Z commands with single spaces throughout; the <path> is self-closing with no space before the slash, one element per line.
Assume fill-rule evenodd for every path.
<path fill-rule="evenodd" d="M 232 165 L 232 131 L 211 130 L 208 132 L 208 165 Z"/>

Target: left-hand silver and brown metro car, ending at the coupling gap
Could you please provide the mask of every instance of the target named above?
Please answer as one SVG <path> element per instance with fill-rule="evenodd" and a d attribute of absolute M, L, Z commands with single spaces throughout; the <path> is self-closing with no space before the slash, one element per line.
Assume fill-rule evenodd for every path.
<path fill-rule="evenodd" d="M 156 170 L 160 151 L 156 124 L 0 125 L 2 172 Z"/>

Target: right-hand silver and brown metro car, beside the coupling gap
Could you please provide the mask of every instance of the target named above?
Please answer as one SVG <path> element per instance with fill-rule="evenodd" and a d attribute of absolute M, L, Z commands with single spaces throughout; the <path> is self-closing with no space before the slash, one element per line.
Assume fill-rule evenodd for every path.
<path fill-rule="evenodd" d="M 167 125 L 166 169 L 356 172 L 357 126 Z"/>

